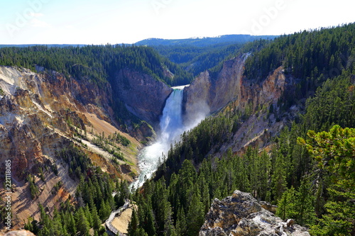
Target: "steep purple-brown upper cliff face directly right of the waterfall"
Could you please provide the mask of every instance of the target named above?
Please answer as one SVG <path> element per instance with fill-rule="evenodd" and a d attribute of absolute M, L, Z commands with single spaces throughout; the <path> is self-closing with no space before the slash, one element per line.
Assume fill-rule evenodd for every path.
<path fill-rule="evenodd" d="M 283 94 L 285 75 L 279 67 L 261 84 L 243 76 L 244 64 L 248 54 L 234 57 L 224 62 L 222 69 L 212 77 L 211 72 L 202 72 L 185 89 L 184 101 L 186 116 L 193 116 L 200 103 L 207 103 L 210 113 L 214 113 L 231 101 L 239 108 L 247 103 L 254 107 L 263 103 L 273 103 Z"/>

